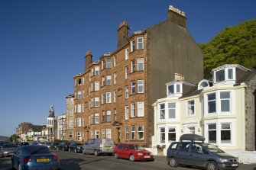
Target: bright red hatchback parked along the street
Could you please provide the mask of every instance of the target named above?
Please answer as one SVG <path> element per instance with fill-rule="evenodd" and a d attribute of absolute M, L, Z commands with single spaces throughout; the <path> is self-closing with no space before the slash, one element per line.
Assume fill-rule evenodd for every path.
<path fill-rule="evenodd" d="M 152 152 L 136 144 L 120 143 L 115 146 L 113 155 L 115 159 L 129 159 L 131 162 L 139 160 L 154 161 Z"/>

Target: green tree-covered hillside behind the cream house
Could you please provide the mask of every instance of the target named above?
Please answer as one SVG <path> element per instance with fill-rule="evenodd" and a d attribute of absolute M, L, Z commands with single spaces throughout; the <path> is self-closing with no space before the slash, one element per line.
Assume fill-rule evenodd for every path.
<path fill-rule="evenodd" d="M 211 69 L 223 64 L 256 66 L 256 19 L 226 27 L 209 43 L 200 43 L 199 47 L 203 50 L 206 79 L 211 77 Z"/>

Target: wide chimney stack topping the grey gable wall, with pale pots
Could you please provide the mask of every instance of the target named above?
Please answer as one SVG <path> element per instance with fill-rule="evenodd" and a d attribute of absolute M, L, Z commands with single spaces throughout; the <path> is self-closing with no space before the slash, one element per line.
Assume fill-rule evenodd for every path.
<path fill-rule="evenodd" d="M 178 24 L 182 27 L 186 27 L 185 12 L 180 11 L 177 8 L 174 8 L 171 5 L 169 6 L 168 20 L 172 21 L 173 23 Z"/>

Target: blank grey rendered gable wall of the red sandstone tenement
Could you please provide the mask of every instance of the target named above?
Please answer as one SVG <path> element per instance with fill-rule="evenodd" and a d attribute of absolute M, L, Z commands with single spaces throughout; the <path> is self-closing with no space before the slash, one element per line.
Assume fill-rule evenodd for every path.
<path fill-rule="evenodd" d="M 173 81 L 174 73 L 184 75 L 186 82 L 203 79 L 203 53 L 185 27 L 164 21 L 147 28 L 147 100 L 151 117 L 149 136 L 154 135 L 153 104 L 166 97 L 165 83 Z"/>

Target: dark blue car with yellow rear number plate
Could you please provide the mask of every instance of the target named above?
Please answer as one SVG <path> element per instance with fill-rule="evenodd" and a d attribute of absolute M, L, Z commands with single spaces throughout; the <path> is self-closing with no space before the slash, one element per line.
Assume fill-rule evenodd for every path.
<path fill-rule="evenodd" d="M 11 156 L 12 169 L 60 169 L 60 159 L 47 146 L 24 145 Z"/>

